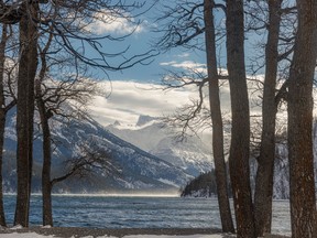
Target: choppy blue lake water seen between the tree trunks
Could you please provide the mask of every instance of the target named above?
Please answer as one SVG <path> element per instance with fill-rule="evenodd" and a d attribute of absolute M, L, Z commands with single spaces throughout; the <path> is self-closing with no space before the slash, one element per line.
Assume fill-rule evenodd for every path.
<path fill-rule="evenodd" d="M 12 225 L 15 196 L 4 195 Z M 288 201 L 275 201 L 273 232 L 289 234 Z M 220 228 L 217 199 L 142 196 L 54 195 L 55 226 L 98 228 Z M 32 195 L 31 225 L 41 225 L 42 197 Z"/>

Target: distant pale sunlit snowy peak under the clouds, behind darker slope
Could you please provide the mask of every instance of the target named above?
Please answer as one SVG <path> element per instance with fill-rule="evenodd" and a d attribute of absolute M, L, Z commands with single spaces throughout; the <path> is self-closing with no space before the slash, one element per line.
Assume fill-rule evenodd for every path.
<path fill-rule="evenodd" d="M 120 121 L 116 121 L 107 129 L 142 150 L 182 167 L 194 176 L 214 167 L 210 147 L 197 137 L 177 140 L 172 129 L 167 128 L 158 118 L 140 116 L 134 127 L 123 127 Z"/>

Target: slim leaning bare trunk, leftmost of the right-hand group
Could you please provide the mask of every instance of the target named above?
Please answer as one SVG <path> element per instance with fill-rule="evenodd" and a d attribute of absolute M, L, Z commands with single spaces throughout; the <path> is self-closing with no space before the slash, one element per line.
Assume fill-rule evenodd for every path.
<path fill-rule="evenodd" d="M 209 105 L 212 122 L 212 151 L 222 231 L 234 232 L 228 195 L 227 169 L 223 154 L 223 128 L 218 85 L 219 82 L 217 72 L 216 35 L 212 6 L 214 0 L 204 1 L 204 20 L 206 26 L 205 39 L 209 80 Z"/>

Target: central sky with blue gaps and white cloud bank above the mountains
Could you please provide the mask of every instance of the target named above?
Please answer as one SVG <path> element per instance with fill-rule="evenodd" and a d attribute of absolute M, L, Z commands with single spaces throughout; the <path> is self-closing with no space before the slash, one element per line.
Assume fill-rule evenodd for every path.
<path fill-rule="evenodd" d="M 164 1 L 162 1 L 164 2 Z M 171 2 L 168 2 L 171 4 Z M 153 29 L 157 26 L 154 21 L 158 6 L 152 8 L 139 20 L 141 23 L 135 26 L 127 20 L 113 21 L 110 24 L 95 22 L 89 30 L 102 34 L 120 36 L 133 34 L 122 42 L 105 43 L 105 51 L 120 52 L 129 47 L 127 57 L 134 54 L 142 54 L 151 50 L 151 44 L 157 41 L 160 33 L 154 33 Z M 138 21 L 138 19 L 135 19 Z M 140 115 L 152 117 L 162 117 L 173 113 L 177 107 L 188 104 L 190 99 L 198 97 L 197 87 L 187 87 L 178 89 L 164 90 L 160 86 L 163 74 L 170 69 L 187 71 L 195 68 L 206 73 L 205 53 L 199 51 L 185 51 L 184 48 L 173 48 L 168 52 L 162 52 L 146 65 L 136 64 L 131 68 L 119 72 L 107 72 L 94 69 L 92 74 L 102 82 L 100 86 L 105 94 L 97 96 L 90 104 L 90 112 L 98 122 L 103 126 L 119 121 L 123 125 L 134 125 Z M 122 57 L 111 58 L 113 64 L 123 61 Z M 111 95 L 109 96 L 109 93 Z M 223 104 L 228 105 L 228 95 L 225 93 Z M 109 97 L 108 97 L 109 96 Z"/>

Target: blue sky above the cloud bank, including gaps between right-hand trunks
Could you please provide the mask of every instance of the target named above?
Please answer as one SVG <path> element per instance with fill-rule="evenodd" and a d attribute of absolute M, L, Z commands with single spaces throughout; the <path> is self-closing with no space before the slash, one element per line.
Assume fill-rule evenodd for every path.
<path fill-rule="evenodd" d="M 139 1 L 142 2 L 142 1 Z M 145 6 L 143 9 L 150 8 L 153 1 L 145 1 Z M 160 51 L 160 54 L 156 55 L 157 51 L 155 44 L 160 42 L 163 33 L 157 32 L 157 30 L 162 30 L 164 26 L 164 21 L 156 21 L 158 17 L 163 13 L 163 6 L 171 7 L 173 2 L 167 0 L 155 1 L 156 4 L 150 8 L 145 13 L 138 15 L 140 11 L 131 13 L 132 15 L 136 14 L 138 17 L 132 17 L 131 21 L 124 19 L 117 19 L 108 24 L 102 22 L 95 22 L 89 25 L 89 30 L 98 35 L 111 35 L 114 37 L 120 37 L 127 34 L 132 33 L 123 41 L 105 41 L 102 45 L 102 51 L 107 53 L 119 53 L 127 48 L 129 48 L 124 53 L 124 57 L 118 56 L 113 58 L 108 58 L 110 63 L 114 66 L 122 63 L 124 60 L 132 57 L 134 55 L 144 54 L 151 50 L 155 56 L 151 57 L 151 60 L 144 61 L 145 65 L 136 64 L 131 68 L 124 71 L 116 71 L 116 72 L 107 72 L 107 75 L 101 71 L 95 69 L 97 76 L 99 78 L 109 78 L 111 80 L 134 80 L 142 83 L 155 83 L 160 84 L 162 80 L 162 75 L 166 73 L 166 71 L 187 71 L 188 68 L 195 68 L 198 71 L 203 71 L 206 73 L 206 52 L 199 50 L 188 50 L 185 47 L 173 47 L 168 51 Z M 131 14 L 129 14 L 131 17 Z M 203 14 L 203 12 L 201 12 Z M 225 24 L 223 14 L 221 14 L 220 10 L 216 11 L 216 23 L 217 25 Z M 134 21 L 134 22 L 133 22 Z M 138 25 L 135 23 L 139 23 Z M 256 42 L 261 41 L 264 36 L 256 36 L 255 34 L 248 34 L 248 41 L 245 41 L 245 57 L 249 58 L 252 55 L 251 44 L 256 44 Z M 201 34 L 198 36 L 199 43 L 204 44 L 205 35 Z M 196 42 L 196 41 L 195 41 Z M 221 67 L 226 67 L 226 46 L 225 40 L 221 41 L 221 46 L 218 46 L 217 51 L 219 55 L 218 62 L 220 62 Z M 217 44 L 219 44 L 217 42 Z M 258 51 L 259 52 L 259 51 Z"/>

